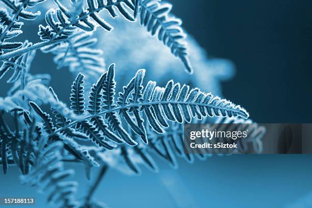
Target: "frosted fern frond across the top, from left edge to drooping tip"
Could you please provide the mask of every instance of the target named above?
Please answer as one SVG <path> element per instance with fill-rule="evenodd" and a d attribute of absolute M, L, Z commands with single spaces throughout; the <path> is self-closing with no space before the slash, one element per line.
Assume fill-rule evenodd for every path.
<path fill-rule="evenodd" d="M 33 1 L 30 2 L 32 3 Z M 38 3 L 41 2 L 41 0 L 38 1 Z M 130 11 L 134 10 L 135 15 L 140 12 L 142 17 L 141 23 L 147 27 L 147 31 L 151 32 L 152 35 L 158 35 L 159 40 L 163 41 L 164 44 L 171 49 L 171 53 L 184 63 L 186 71 L 189 73 L 192 72 L 192 67 L 188 60 L 186 44 L 181 40 L 184 39 L 186 35 L 180 27 L 181 21 L 169 15 L 171 10 L 170 4 L 145 0 L 88 0 L 86 6 L 84 6 L 83 2 L 83 0 L 71 1 L 67 8 L 59 0 L 56 0 L 55 3 L 58 9 L 48 10 L 45 14 L 47 25 L 39 25 L 38 35 L 42 42 L 38 42 L 34 45 L 22 46 L 19 49 L 17 49 L 17 47 L 20 47 L 22 43 L 4 43 L 4 49 L 14 49 L 14 51 L 6 53 L 3 57 L 0 57 L 0 60 L 14 59 L 16 56 L 21 56 L 37 48 L 42 48 L 43 51 L 53 51 L 61 45 L 63 50 L 62 55 L 58 56 L 55 60 L 58 62 L 58 68 L 63 64 L 68 64 L 70 68 L 74 67 L 76 69 L 80 68 L 82 65 L 87 65 L 87 68 L 93 68 L 94 70 L 95 67 L 97 70 L 102 66 L 102 62 L 96 62 L 100 60 L 97 58 L 101 55 L 100 50 L 83 50 L 80 48 L 81 51 L 79 51 L 79 53 L 76 51 L 74 56 L 69 56 L 69 58 L 66 59 L 68 53 L 72 53 L 70 53 L 70 47 L 65 45 L 74 44 L 71 39 L 79 36 L 79 34 L 75 33 L 77 30 L 84 32 L 95 31 L 98 24 L 105 30 L 111 31 L 113 29 L 111 25 L 99 16 L 102 10 L 107 10 L 112 17 L 118 16 L 118 10 L 122 16 L 130 21 L 135 20 L 132 14 L 130 14 Z M 2 13 L 5 14 L 5 12 Z M 3 21 L 7 23 L 9 19 L 6 15 L 4 16 Z M 15 37 L 15 35 L 19 33 L 21 33 L 21 31 L 12 32 L 12 34 L 8 35 L 8 38 Z M 64 46 L 66 49 L 64 49 Z M 86 57 L 81 57 L 81 55 Z M 77 58 L 76 60 L 79 61 L 79 66 L 73 58 Z"/>

